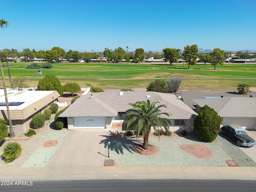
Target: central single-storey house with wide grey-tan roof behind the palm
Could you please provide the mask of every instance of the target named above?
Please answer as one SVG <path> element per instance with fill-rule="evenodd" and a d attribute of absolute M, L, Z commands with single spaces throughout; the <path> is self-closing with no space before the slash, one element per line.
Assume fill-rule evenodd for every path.
<path fill-rule="evenodd" d="M 194 112 L 173 94 L 146 91 L 108 91 L 93 94 L 83 94 L 59 117 L 67 117 L 68 129 L 79 128 L 106 128 L 118 124 L 122 128 L 122 122 L 126 110 L 132 108 L 129 103 L 137 101 L 159 101 L 167 108 L 161 108 L 162 112 L 168 112 L 172 122 L 171 131 L 193 131 Z M 168 118 L 168 116 L 163 116 Z M 125 128 L 123 127 L 123 130 Z"/>

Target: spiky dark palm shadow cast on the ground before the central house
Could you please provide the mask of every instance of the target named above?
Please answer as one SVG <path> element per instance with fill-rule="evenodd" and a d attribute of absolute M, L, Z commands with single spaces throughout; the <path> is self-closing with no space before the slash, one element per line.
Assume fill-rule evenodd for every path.
<path fill-rule="evenodd" d="M 136 153 L 134 150 L 135 146 L 138 145 L 139 141 L 135 140 L 135 136 L 125 136 L 123 133 L 111 132 L 109 135 L 101 135 L 105 139 L 100 141 L 100 144 L 104 144 L 105 148 L 108 148 L 111 151 L 115 151 L 117 154 L 124 154 L 124 150 L 127 150 L 130 153 Z M 108 145 L 110 142 L 110 145 Z"/>

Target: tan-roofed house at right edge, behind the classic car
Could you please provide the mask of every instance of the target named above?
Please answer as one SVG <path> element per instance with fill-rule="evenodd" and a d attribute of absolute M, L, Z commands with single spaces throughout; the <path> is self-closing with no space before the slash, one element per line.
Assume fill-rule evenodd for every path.
<path fill-rule="evenodd" d="M 221 124 L 236 124 L 242 128 L 256 130 L 256 98 L 254 97 L 223 97 L 193 100 L 196 112 L 203 106 L 213 108 L 221 117 Z"/>

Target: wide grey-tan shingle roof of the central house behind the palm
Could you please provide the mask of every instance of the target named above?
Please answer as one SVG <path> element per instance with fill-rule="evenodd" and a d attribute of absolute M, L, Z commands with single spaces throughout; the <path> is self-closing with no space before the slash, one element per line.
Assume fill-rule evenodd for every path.
<path fill-rule="evenodd" d="M 150 95 L 150 98 L 146 98 Z M 137 101 L 150 102 L 159 101 L 167 108 L 161 108 L 162 112 L 172 114 L 171 119 L 190 119 L 197 114 L 184 102 L 173 94 L 146 91 L 128 91 L 119 95 L 119 91 L 106 91 L 94 93 L 93 98 L 90 94 L 82 95 L 60 116 L 62 117 L 81 117 L 81 116 L 117 116 L 118 112 L 125 112 L 132 108 L 129 103 Z M 166 117 L 166 116 L 165 116 Z"/>

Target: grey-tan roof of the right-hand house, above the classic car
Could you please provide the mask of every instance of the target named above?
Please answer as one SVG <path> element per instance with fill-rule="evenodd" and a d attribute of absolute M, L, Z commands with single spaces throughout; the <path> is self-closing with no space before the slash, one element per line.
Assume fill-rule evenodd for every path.
<path fill-rule="evenodd" d="M 208 105 L 221 117 L 256 117 L 256 98 L 229 97 L 193 100 L 198 106 Z"/>

